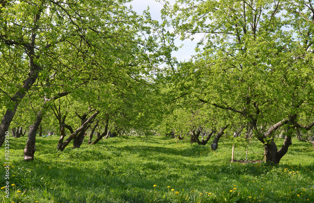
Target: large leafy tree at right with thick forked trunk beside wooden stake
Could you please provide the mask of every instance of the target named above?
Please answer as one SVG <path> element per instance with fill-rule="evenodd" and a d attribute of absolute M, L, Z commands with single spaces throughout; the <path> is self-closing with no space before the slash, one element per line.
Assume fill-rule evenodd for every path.
<path fill-rule="evenodd" d="M 239 114 L 279 163 L 295 129 L 314 126 L 313 3 L 308 1 L 178 1 L 165 6 L 182 39 L 204 37 L 183 94 Z M 289 31 L 287 27 L 289 26 Z M 233 117 L 234 118 L 234 117 Z M 276 130 L 290 126 L 278 150 Z"/>

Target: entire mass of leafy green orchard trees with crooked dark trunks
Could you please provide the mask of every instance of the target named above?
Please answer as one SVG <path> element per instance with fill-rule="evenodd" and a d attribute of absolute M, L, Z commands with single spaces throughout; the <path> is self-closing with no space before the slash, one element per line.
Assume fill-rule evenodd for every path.
<path fill-rule="evenodd" d="M 24 160 L 41 126 L 58 126 L 59 150 L 80 147 L 87 129 L 102 130 L 91 144 L 137 132 L 214 137 L 213 149 L 228 132 L 279 163 L 293 136 L 311 141 L 311 1 L 163 2 L 161 23 L 125 3 L 0 0 L 0 146 L 21 126 Z M 178 36 L 197 42 L 192 59 L 171 56 Z"/>

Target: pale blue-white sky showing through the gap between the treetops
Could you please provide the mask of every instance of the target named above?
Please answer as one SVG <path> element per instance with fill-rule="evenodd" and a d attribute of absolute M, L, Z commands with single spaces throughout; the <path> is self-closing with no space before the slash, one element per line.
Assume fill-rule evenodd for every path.
<path fill-rule="evenodd" d="M 170 3 L 175 3 L 175 0 L 168 0 Z M 132 5 L 133 10 L 138 14 L 143 14 L 143 10 L 147 9 L 149 6 L 149 12 L 152 19 L 161 21 L 160 10 L 163 7 L 163 4 L 156 2 L 155 0 L 133 0 L 131 3 L 127 3 L 127 6 Z M 170 28 L 171 29 L 171 28 Z M 192 55 L 195 54 L 194 48 L 196 46 L 195 41 L 186 39 L 181 41 L 179 38 L 176 39 L 175 44 L 177 47 L 180 47 L 178 51 L 173 52 L 172 56 L 176 57 L 178 61 L 188 61 Z"/>

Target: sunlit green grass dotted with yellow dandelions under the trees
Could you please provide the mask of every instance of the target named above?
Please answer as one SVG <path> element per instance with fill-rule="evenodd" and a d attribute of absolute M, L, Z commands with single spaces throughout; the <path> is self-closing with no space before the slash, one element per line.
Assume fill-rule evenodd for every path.
<path fill-rule="evenodd" d="M 9 140 L 10 199 L 1 189 L 2 203 L 314 202 L 313 147 L 296 139 L 275 166 L 230 163 L 234 141 L 226 138 L 212 151 L 188 140 L 127 136 L 96 145 L 85 139 L 80 148 L 69 145 L 63 152 L 56 150 L 57 136 L 37 137 L 35 160 L 24 162 L 26 139 Z M 235 159 L 245 159 L 246 146 L 235 151 Z M 252 141 L 248 158 L 262 159 L 263 145 Z"/>

